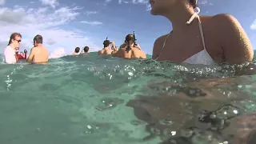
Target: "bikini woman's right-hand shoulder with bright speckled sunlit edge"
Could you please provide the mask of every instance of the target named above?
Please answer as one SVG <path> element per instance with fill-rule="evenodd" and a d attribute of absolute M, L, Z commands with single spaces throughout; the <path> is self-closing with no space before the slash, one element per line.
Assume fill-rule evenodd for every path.
<path fill-rule="evenodd" d="M 230 14 L 217 14 L 212 19 L 218 28 L 218 38 L 222 44 L 226 62 L 240 64 L 251 61 L 254 50 L 246 31 L 238 20 Z"/>

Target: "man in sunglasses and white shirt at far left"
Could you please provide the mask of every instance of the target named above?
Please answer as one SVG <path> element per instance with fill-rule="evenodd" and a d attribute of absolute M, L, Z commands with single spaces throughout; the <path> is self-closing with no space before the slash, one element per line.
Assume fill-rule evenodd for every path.
<path fill-rule="evenodd" d="M 4 51 L 4 58 L 7 64 L 14 64 L 18 61 L 16 56 L 16 49 L 22 42 L 22 34 L 13 33 L 10 35 L 8 46 Z"/>

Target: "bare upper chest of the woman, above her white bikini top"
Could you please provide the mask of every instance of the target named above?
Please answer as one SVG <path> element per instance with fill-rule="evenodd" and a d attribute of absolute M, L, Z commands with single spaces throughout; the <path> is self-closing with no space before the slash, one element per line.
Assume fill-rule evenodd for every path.
<path fill-rule="evenodd" d="M 202 50 L 206 50 L 214 62 L 222 62 L 224 59 L 222 47 L 216 34 L 213 30 L 207 29 L 203 32 L 203 38 L 199 30 L 187 34 L 170 35 L 169 38 L 166 38 L 165 46 L 163 41 L 162 46 L 158 46 L 158 49 L 158 60 L 160 61 L 184 62 L 192 56 L 202 56 L 202 54 L 198 54 Z M 208 54 L 206 57 L 209 57 Z"/>

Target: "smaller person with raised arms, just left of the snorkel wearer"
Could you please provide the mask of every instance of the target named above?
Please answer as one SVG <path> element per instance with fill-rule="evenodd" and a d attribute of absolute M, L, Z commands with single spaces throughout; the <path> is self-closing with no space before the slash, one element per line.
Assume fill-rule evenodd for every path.
<path fill-rule="evenodd" d="M 111 46 L 112 45 L 112 46 Z M 112 41 L 110 42 L 109 40 L 105 40 L 103 42 L 103 46 L 104 48 L 102 50 L 98 50 L 98 54 L 99 55 L 110 55 L 110 54 L 114 54 L 117 52 L 117 48 L 115 46 L 115 43 Z M 110 47 L 111 46 L 111 47 Z"/>

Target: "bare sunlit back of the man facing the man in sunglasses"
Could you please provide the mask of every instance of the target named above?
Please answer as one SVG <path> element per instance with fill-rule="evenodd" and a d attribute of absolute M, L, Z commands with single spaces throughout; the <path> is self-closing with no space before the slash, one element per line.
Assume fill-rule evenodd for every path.
<path fill-rule="evenodd" d="M 33 49 L 34 49 L 33 63 L 48 62 L 49 51 L 45 47 L 38 46 L 38 47 L 34 47 Z"/>

